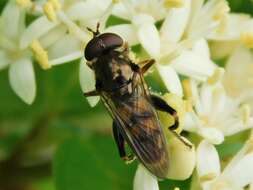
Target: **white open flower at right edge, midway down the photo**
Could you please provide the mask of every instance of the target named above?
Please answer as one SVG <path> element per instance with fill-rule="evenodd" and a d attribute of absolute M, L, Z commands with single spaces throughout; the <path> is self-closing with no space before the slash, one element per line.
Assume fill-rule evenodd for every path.
<path fill-rule="evenodd" d="M 253 125 L 250 108 L 230 97 L 222 84 L 224 70 L 218 68 L 206 83 L 185 81 L 185 92 L 193 103 L 186 114 L 184 129 L 195 132 L 212 144 L 220 144 L 224 136 L 236 134 Z"/>

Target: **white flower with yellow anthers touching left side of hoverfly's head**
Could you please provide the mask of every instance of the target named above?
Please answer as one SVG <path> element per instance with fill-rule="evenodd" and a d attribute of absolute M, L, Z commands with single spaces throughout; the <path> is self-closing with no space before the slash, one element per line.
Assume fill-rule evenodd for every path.
<path fill-rule="evenodd" d="M 95 28 L 99 22 L 100 30 L 103 30 L 114 4 L 110 0 L 76 0 L 62 3 L 47 0 L 36 5 L 43 10 L 44 15 L 25 29 L 20 47 L 24 49 L 30 46 L 42 68 L 49 68 L 82 58 L 84 47 L 92 37 L 86 27 Z M 86 92 L 95 81 L 90 68 L 84 64 L 82 60 L 79 78 L 82 90 Z M 88 102 L 94 106 L 98 98 L 88 98 Z"/>

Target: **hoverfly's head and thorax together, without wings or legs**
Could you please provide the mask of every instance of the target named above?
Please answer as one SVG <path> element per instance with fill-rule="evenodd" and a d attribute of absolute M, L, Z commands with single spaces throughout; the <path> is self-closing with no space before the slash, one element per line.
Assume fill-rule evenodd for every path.
<path fill-rule="evenodd" d="M 95 72 L 97 84 L 105 90 L 124 86 L 133 73 L 127 51 L 122 50 L 125 47 L 123 39 L 114 33 L 96 31 L 93 34 L 84 55 L 87 65 Z"/>

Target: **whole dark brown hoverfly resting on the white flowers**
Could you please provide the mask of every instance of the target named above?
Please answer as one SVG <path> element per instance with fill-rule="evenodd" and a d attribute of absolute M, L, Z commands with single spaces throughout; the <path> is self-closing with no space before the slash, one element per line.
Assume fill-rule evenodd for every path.
<path fill-rule="evenodd" d="M 95 73 L 96 85 L 94 91 L 84 95 L 101 97 L 113 118 L 113 135 L 120 157 L 127 162 L 133 159 L 126 153 L 127 143 L 153 175 L 166 178 L 169 155 L 156 110 L 174 116 L 175 123 L 170 129 L 178 127 L 178 117 L 176 110 L 163 99 L 150 94 L 144 81 L 143 75 L 154 60 L 135 64 L 129 58 L 127 43 L 120 36 L 100 34 L 98 28 L 99 25 L 96 31 L 88 28 L 93 38 L 84 54 L 87 65 Z"/>

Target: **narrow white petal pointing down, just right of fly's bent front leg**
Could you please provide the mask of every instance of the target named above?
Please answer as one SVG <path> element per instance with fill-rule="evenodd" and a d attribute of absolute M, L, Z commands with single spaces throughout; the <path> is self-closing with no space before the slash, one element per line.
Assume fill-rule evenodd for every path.
<path fill-rule="evenodd" d="M 167 89 L 180 97 L 183 96 L 183 89 L 176 71 L 170 65 L 156 64 L 156 68 Z"/>

